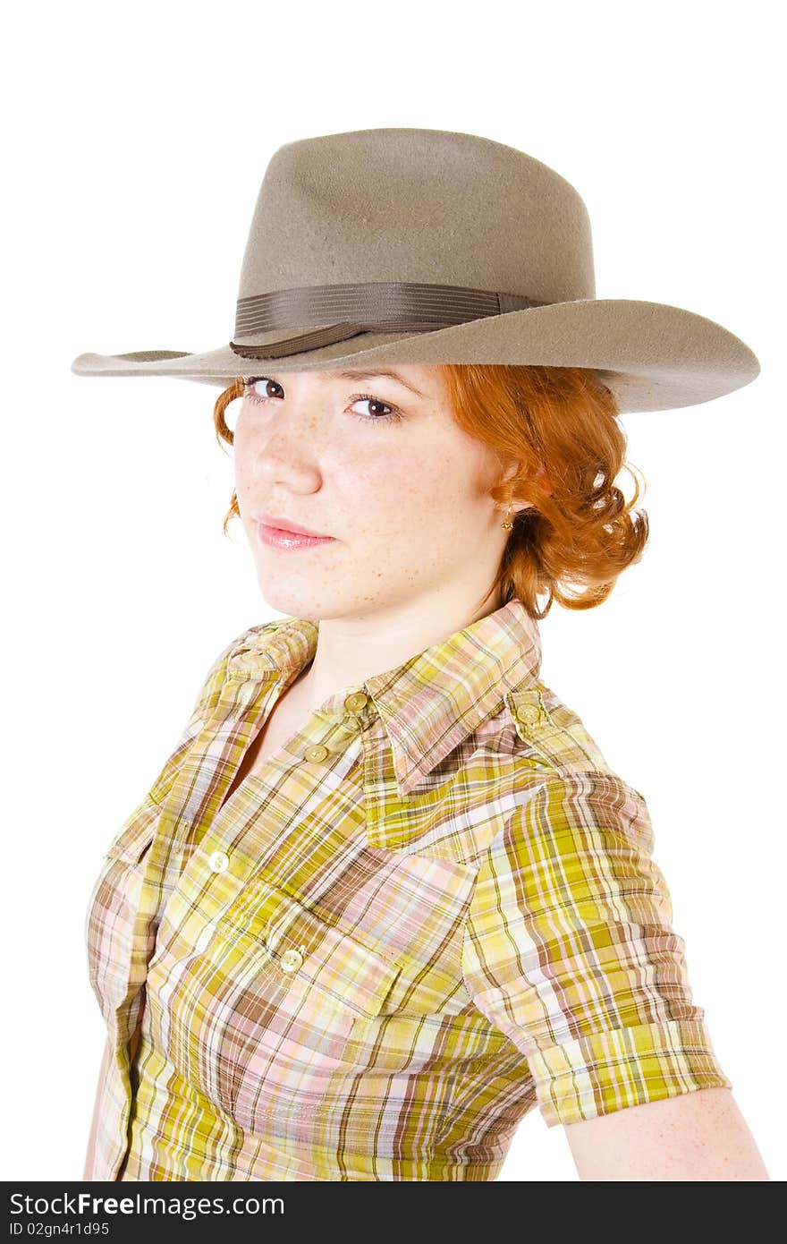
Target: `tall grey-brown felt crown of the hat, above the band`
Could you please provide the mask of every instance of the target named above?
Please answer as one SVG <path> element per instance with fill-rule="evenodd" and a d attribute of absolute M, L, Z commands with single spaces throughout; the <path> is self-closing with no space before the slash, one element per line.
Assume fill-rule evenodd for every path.
<path fill-rule="evenodd" d="M 474 134 L 358 129 L 278 147 L 239 300 L 385 281 L 593 299 L 587 208 L 546 164 Z"/>

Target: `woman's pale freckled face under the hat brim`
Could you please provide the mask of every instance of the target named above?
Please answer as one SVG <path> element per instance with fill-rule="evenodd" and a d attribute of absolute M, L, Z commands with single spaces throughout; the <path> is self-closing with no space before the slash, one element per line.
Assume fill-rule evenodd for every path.
<path fill-rule="evenodd" d="M 259 366 L 234 454 L 240 516 L 267 603 L 295 617 L 336 618 L 395 610 L 425 592 L 454 600 L 465 583 L 467 598 L 480 598 L 506 539 L 489 495 L 500 464 L 454 422 L 440 369 L 388 368 L 395 379 Z M 265 514 L 332 539 L 274 547 L 260 529 Z"/>

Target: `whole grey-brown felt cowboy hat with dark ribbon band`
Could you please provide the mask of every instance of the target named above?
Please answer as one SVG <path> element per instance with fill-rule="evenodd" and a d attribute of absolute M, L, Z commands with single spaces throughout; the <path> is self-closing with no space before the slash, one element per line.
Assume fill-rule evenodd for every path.
<path fill-rule="evenodd" d="M 357 129 L 278 147 L 218 350 L 78 355 L 77 376 L 218 384 L 407 363 L 593 368 L 619 411 L 695 406 L 760 362 L 705 316 L 597 299 L 587 208 L 515 147 L 444 129 Z"/>

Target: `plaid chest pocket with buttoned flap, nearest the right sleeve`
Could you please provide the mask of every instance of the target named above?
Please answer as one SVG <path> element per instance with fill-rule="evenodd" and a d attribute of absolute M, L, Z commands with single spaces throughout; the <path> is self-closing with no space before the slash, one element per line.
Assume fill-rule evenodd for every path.
<path fill-rule="evenodd" d="M 183 939 L 173 939 L 173 945 Z M 241 1127 L 324 1111 L 368 1055 L 399 960 L 256 878 L 178 958 L 148 973 L 150 1039 Z"/>

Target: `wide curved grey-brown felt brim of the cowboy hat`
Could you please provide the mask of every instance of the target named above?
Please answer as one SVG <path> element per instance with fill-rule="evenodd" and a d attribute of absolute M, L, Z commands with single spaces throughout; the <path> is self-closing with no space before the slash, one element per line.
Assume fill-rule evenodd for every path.
<path fill-rule="evenodd" d="M 264 346 L 313 327 L 235 341 Z M 267 371 L 281 374 L 408 363 L 592 368 L 612 391 L 622 414 L 699 406 L 750 384 L 760 374 L 756 355 L 722 325 L 683 307 L 630 299 L 553 302 L 434 332 L 362 333 L 281 358 L 244 358 L 229 343 L 203 353 L 85 353 L 73 360 L 71 371 L 77 376 L 169 376 L 226 388 L 239 376 L 264 376 Z"/>

